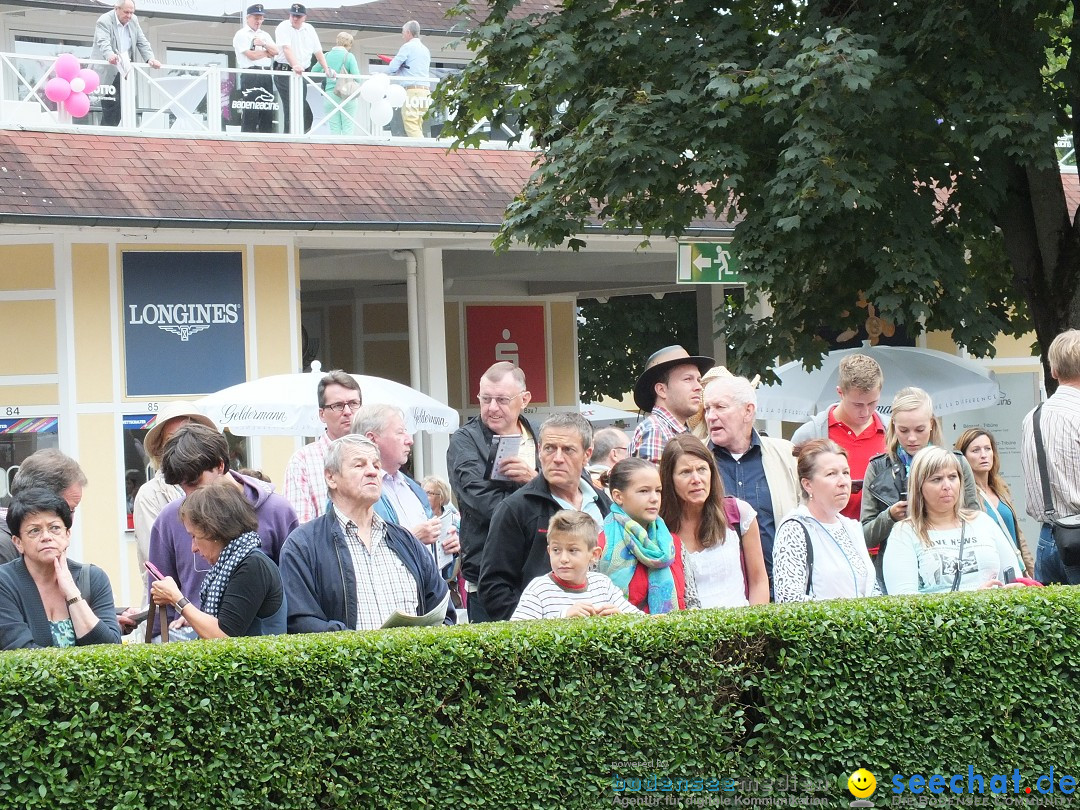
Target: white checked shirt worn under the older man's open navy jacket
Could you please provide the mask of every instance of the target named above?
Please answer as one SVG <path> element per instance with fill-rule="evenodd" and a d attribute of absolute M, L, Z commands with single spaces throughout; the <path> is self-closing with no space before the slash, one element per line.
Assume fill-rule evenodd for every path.
<path fill-rule="evenodd" d="M 416 579 L 387 545 L 387 524 L 372 514 L 372 548 L 364 545 L 355 523 L 335 510 L 356 577 L 356 630 L 378 630 L 395 610 L 418 616 Z"/>

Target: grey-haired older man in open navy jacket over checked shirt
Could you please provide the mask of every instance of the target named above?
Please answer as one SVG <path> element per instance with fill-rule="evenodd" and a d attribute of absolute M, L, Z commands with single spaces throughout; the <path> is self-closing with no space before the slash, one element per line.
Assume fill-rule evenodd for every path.
<path fill-rule="evenodd" d="M 423 616 L 446 597 L 446 582 L 420 541 L 374 510 L 382 492 L 379 448 L 352 433 L 326 456 L 329 511 L 288 536 L 281 580 L 289 633 L 375 630 L 395 611 Z M 445 624 L 457 615 L 447 600 Z"/>

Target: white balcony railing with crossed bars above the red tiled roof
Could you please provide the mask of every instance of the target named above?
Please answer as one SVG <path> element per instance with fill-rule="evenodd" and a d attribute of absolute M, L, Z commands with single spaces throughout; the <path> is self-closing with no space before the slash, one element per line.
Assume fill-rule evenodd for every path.
<path fill-rule="evenodd" d="M 0 127 L 102 132 L 103 100 L 106 107 L 110 104 L 113 85 L 99 84 L 90 94 L 90 112 L 72 118 L 65 105 L 57 105 L 45 95 L 45 84 L 55 76 L 54 63 L 52 56 L 0 53 Z M 93 59 L 81 59 L 80 64 L 89 68 L 108 66 Z M 326 90 L 323 73 L 240 70 L 216 65 L 151 68 L 134 64 L 131 67 L 131 73 L 120 82 L 119 126 L 146 135 L 191 133 L 246 137 L 248 133 L 241 129 L 245 111 L 261 110 L 268 113 L 271 122 L 270 131 L 259 137 L 297 137 L 305 133 L 307 102 L 312 123 L 303 137 L 390 140 L 405 137 L 403 107 L 424 99 L 403 99 L 407 94 L 386 91 L 395 84 L 403 87 L 428 85 L 434 90 L 440 81 L 437 78 L 401 78 L 384 73 L 355 76 L 351 77 L 356 80 L 355 90 L 341 98 L 333 90 Z M 276 87 L 279 82 L 286 80 L 287 109 Z M 369 82 L 375 84 L 365 92 Z M 443 123 L 441 113 L 427 107 L 424 137 L 437 138 Z M 476 129 L 491 140 L 505 140 L 514 134 L 509 130 L 490 132 L 484 123 Z"/>

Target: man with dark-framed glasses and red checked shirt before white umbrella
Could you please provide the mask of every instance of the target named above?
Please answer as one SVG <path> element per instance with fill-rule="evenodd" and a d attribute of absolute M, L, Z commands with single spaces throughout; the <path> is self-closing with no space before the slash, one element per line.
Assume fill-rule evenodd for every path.
<path fill-rule="evenodd" d="M 330 442 L 352 430 L 352 417 L 363 404 L 360 383 L 340 368 L 323 375 L 316 396 L 319 418 L 326 426 L 326 432 L 294 453 L 285 468 L 285 499 L 296 510 L 300 523 L 326 513 L 326 476 L 323 470 Z"/>

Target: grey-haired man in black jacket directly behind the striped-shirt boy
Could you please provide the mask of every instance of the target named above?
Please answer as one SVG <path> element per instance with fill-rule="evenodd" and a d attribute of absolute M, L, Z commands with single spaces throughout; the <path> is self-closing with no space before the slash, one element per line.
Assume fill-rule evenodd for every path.
<path fill-rule="evenodd" d="M 596 489 L 585 464 L 593 428 L 580 414 L 555 414 L 540 427 L 540 472 L 495 511 L 481 564 L 480 595 L 491 620 L 509 619 L 522 591 L 551 571 L 548 523 L 561 509 L 584 512 L 599 534 L 611 502 Z"/>

